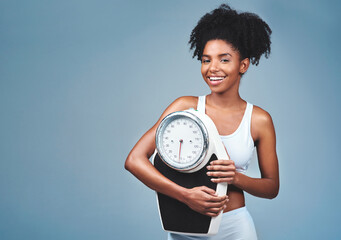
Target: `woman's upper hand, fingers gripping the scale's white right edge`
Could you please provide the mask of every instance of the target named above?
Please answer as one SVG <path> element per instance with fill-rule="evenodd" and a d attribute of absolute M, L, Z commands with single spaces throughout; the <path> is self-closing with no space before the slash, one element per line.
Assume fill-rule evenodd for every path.
<path fill-rule="evenodd" d="M 207 175 L 214 177 L 211 179 L 214 183 L 227 182 L 233 184 L 236 179 L 236 167 L 232 160 L 214 160 L 207 166 L 210 170 Z"/>

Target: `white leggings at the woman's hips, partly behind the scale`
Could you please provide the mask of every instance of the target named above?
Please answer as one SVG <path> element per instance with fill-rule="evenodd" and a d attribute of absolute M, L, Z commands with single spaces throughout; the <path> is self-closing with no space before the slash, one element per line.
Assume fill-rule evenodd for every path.
<path fill-rule="evenodd" d="M 168 233 L 168 240 L 257 240 L 252 217 L 246 207 L 223 213 L 219 231 L 211 237 Z"/>

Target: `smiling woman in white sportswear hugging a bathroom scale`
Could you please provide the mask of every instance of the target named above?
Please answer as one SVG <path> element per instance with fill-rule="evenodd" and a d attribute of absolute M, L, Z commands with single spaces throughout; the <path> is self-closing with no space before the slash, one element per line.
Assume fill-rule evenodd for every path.
<path fill-rule="evenodd" d="M 252 13 L 238 13 L 228 5 L 204 15 L 193 29 L 189 43 L 201 61 L 201 73 L 211 93 L 176 99 L 129 153 L 125 168 L 151 189 L 166 194 L 207 216 L 223 218 L 217 235 L 208 239 L 257 239 L 253 220 L 245 207 L 244 191 L 272 199 L 279 190 L 276 136 L 269 113 L 243 100 L 239 85 L 250 62 L 270 54 L 269 26 Z M 201 186 L 187 189 L 175 184 L 149 162 L 155 150 L 155 131 L 168 114 L 196 108 L 215 123 L 231 160 L 212 161 L 207 175 L 215 183 L 229 184 L 226 196 Z M 261 178 L 245 175 L 254 149 Z M 169 234 L 168 239 L 207 239 Z"/>

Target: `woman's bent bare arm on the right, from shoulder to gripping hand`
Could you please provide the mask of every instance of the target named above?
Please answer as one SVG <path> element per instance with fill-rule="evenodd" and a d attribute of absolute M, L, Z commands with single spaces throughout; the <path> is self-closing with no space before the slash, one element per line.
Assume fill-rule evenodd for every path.
<path fill-rule="evenodd" d="M 232 160 L 216 160 L 209 167 L 213 182 L 227 182 L 262 198 L 275 198 L 279 191 L 279 170 L 276 154 L 276 134 L 271 116 L 258 108 L 253 114 L 253 135 L 257 147 L 261 178 L 251 178 L 235 171 Z"/>

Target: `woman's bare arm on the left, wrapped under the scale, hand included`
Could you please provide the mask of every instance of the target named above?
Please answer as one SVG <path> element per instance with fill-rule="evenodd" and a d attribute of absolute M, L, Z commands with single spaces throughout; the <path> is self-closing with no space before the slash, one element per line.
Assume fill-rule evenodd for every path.
<path fill-rule="evenodd" d="M 149 188 L 187 204 L 191 209 L 208 216 L 216 216 L 227 203 L 227 196 L 218 197 L 211 188 L 201 186 L 184 188 L 163 176 L 149 161 L 155 150 L 155 132 L 161 120 L 175 111 L 196 107 L 196 97 L 176 99 L 163 112 L 157 123 L 149 129 L 130 151 L 125 168 Z"/>

